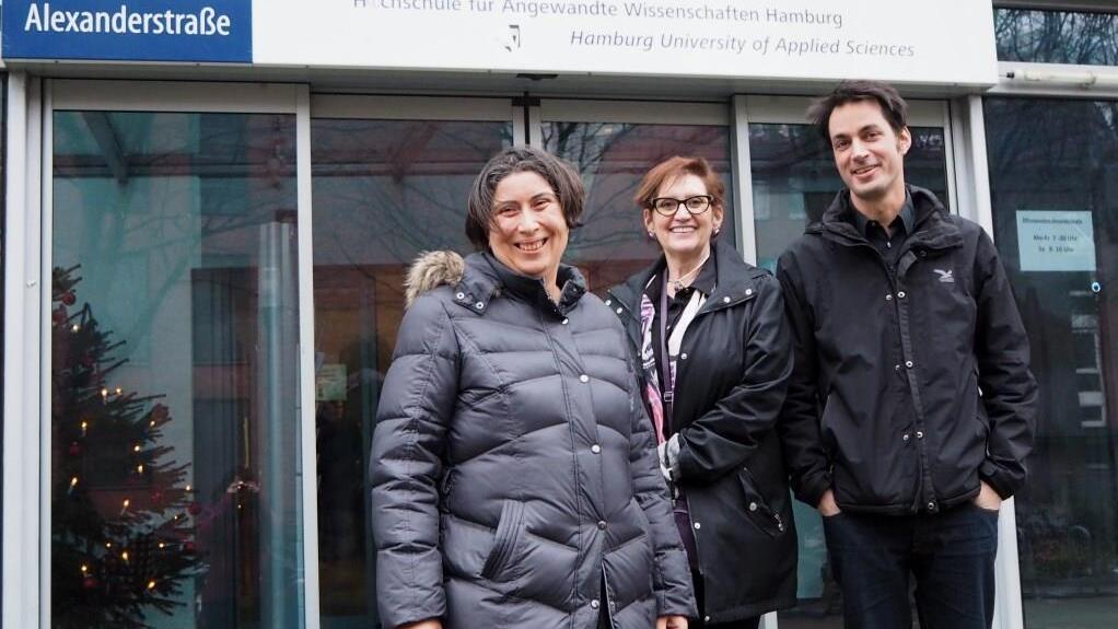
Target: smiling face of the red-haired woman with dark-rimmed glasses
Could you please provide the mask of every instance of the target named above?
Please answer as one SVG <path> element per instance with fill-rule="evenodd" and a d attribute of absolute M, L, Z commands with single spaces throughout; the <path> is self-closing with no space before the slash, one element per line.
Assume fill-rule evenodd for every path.
<path fill-rule="evenodd" d="M 709 194 L 707 184 L 690 173 L 669 179 L 656 191 L 657 198 L 667 197 L 679 201 L 701 194 Z M 680 203 L 675 213 L 670 217 L 645 209 L 644 226 L 670 258 L 699 258 L 710 247 L 711 236 L 722 227 L 722 204 L 716 201 L 707 211 L 692 215 Z"/>

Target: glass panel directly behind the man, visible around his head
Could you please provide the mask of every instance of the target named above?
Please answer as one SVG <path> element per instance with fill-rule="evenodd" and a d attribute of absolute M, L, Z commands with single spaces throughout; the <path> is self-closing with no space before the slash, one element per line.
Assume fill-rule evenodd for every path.
<path fill-rule="evenodd" d="M 941 127 L 910 128 L 912 147 L 904 158 L 906 181 L 928 188 L 947 206 L 947 162 Z M 814 126 L 750 124 L 754 218 L 758 265 L 775 270 L 776 260 L 804 227 L 818 220 L 843 188 L 831 147 Z M 818 512 L 793 502 L 799 534 L 799 607 L 780 612 L 780 629 L 842 626 L 842 599 L 827 563 Z"/>

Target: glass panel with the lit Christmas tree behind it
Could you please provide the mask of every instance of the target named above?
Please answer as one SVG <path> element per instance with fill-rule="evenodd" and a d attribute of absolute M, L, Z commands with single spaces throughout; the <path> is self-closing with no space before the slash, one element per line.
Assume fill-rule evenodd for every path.
<path fill-rule="evenodd" d="M 51 626 L 302 627 L 295 117 L 56 112 Z"/>

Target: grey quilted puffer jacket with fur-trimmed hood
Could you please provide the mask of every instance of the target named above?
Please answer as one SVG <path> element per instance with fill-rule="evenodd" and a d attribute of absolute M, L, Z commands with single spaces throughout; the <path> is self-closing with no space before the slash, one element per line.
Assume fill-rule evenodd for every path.
<path fill-rule="evenodd" d="M 428 254 L 410 278 L 370 468 L 383 625 L 694 614 L 623 331 L 581 275 L 560 269 L 558 305 L 489 254 Z"/>

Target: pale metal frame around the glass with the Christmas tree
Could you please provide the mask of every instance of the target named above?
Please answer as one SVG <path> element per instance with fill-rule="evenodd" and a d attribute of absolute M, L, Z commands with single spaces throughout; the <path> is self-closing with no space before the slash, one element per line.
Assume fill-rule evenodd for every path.
<path fill-rule="evenodd" d="M 53 258 L 53 120 L 56 111 L 182 112 L 290 114 L 296 124 L 296 199 L 299 246 L 299 391 L 296 417 L 300 421 L 299 448 L 300 513 L 303 563 L 304 627 L 318 629 L 318 508 L 315 469 L 313 334 L 314 309 L 310 284 L 312 260 L 310 206 L 310 89 L 301 84 L 190 83 L 94 79 L 38 79 L 15 73 L 9 96 L 19 101 L 12 112 L 26 116 L 27 136 L 8 149 L 10 164 L 26 168 L 26 184 L 9 190 L 9 217 L 21 225 L 10 231 L 8 242 L 19 242 L 26 264 L 9 265 L 4 273 L 18 295 L 7 302 L 9 331 L 6 363 L 6 406 L 20 406 L 22 422 L 7 422 L 4 464 L 3 531 L 3 621 L 4 626 L 50 627 L 51 610 L 51 505 L 50 505 L 50 298 Z M 18 121 L 17 121 L 18 122 Z M 9 125 L 11 127 L 11 125 Z M 20 128 L 15 126 L 12 128 Z M 23 183 L 21 181 L 20 183 Z M 17 309 L 21 312 L 16 312 Z M 19 343 L 11 340 L 19 339 Z M 37 342 L 36 342 L 37 341 Z M 21 345 L 21 346 L 20 346 Z M 10 351 L 9 351 L 10 350 Z M 19 352 L 12 354 L 12 352 Z M 8 375 L 22 370 L 37 378 Z M 32 406 L 31 400 L 35 400 Z M 9 408 L 6 408 L 6 414 Z M 13 430 L 8 430 L 8 428 Z M 18 430 L 15 428 L 18 427 Z M 10 440 L 9 440 L 10 439 Z M 313 508 L 312 508 L 313 507 Z M 9 526 L 9 517 L 18 521 Z M 11 520 L 16 520 L 12 517 Z M 34 561 L 31 556 L 34 555 Z M 307 570 L 307 566 L 315 566 Z"/>

